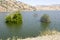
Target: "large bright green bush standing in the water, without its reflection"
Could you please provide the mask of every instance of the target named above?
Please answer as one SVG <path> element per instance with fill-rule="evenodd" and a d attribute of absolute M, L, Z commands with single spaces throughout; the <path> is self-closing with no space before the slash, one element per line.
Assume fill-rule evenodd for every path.
<path fill-rule="evenodd" d="M 19 24 L 22 23 L 22 16 L 20 11 L 13 12 L 6 16 L 6 23 L 8 24 Z"/>

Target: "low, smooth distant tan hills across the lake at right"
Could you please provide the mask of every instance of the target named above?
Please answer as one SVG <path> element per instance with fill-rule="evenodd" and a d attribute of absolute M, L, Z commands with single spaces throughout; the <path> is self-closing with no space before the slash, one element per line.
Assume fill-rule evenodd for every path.
<path fill-rule="evenodd" d="M 54 5 L 40 5 L 35 6 L 36 10 L 60 10 L 60 5 L 54 4 Z"/>

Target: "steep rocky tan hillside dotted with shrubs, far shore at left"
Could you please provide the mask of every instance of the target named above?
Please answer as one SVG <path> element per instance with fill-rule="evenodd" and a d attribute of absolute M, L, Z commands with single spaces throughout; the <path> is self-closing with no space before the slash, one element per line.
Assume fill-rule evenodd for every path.
<path fill-rule="evenodd" d="M 33 11 L 36 9 L 33 6 L 27 5 L 22 2 L 17 2 L 16 0 L 0 0 L 0 12 L 16 10 Z"/>

